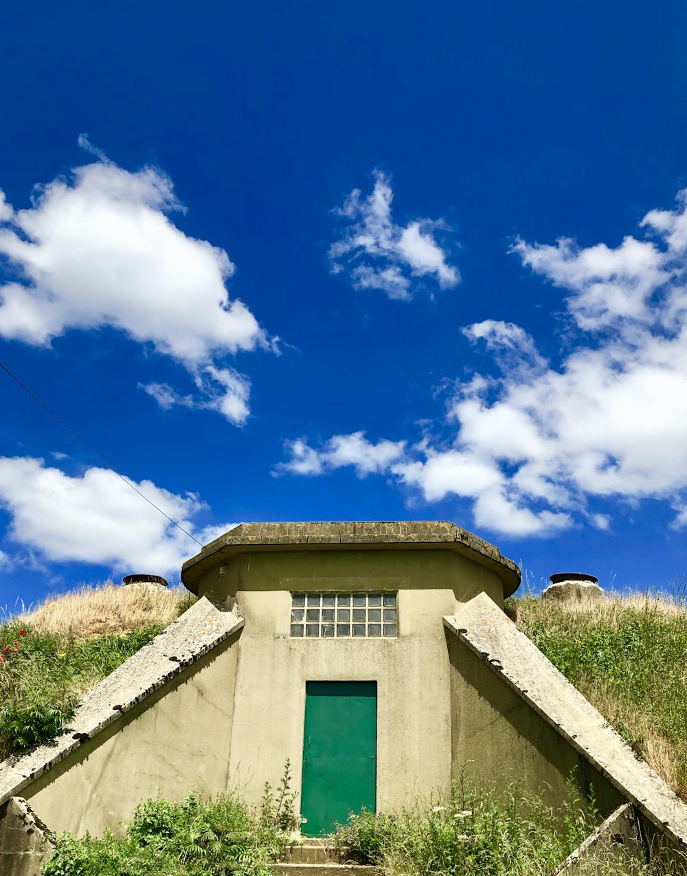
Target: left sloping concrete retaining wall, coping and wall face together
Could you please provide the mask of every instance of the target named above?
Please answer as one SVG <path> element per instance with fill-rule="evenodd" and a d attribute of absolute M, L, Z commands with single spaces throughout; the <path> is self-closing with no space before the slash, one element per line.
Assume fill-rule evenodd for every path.
<path fill-rule="evenodd" d="M 145 796 L 225 791 L 243 625 L 206 594 L 89 691 L 52 745 L 0 765 L 0 804 L 22 792 L 52 830 L 98 834 Z"/>

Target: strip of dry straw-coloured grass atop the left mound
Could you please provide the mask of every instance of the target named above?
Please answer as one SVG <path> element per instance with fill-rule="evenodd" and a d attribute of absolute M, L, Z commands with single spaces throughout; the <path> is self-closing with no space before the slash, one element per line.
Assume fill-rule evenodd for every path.
<path fill-rule="evenodd" d="M 191 594 L 182 587 L 83 584 L 77 590 L 48 597 L 17 620 L 31 625 L 36 632 L 86 639 L 109 632 L 130 632 L 149 624 L 166 626 L 192 601 Z"/>

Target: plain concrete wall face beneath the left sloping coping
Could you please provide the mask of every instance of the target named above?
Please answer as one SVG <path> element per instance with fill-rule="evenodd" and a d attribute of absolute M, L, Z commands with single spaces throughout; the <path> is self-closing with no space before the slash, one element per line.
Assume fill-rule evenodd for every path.
<path fill-rule="evenodd" d="M 229 787 L 240 633 L 195 661 L 25 788 L 51 830 L 120 830 L 138 802 Z"/>

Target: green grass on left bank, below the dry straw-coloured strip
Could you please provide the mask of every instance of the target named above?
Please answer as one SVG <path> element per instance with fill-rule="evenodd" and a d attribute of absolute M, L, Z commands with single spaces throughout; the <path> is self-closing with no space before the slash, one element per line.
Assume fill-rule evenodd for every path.
<path fill-rule="evenodd" d="M 74 639 L 0 625 L 0 759 L 54 738 L 81 696 L 150 642 L 161 624 Z"/>

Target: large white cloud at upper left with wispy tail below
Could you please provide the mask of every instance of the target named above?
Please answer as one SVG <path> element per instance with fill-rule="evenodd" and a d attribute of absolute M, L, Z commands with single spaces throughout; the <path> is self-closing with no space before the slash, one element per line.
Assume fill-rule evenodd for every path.
<path fill-rule="evenodd" d="M 0 258 L 10 272 L 0 286 L 0 336 L 45 347 L 70 329 L 119 329 L 212 387 L 204 406 L 243 423 L 248 382 L 233 370 L 227 382 L 221 361 L 269 341 L 248 307 L 229 298 L 227 253 L 171 221 L 182 211 L 158 168 L 131 173 L 102 155 L 38 187 L 30 208 L 12 209 L 0 192 Z"/>

